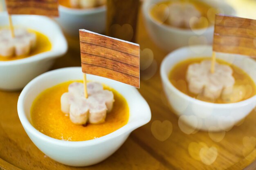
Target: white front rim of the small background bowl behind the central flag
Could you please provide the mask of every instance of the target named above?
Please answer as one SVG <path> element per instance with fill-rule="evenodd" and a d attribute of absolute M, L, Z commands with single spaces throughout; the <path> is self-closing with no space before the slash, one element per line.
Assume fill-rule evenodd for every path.
<path fill-rule="evenodd" d="M 99 7 L 90 8 L 90 9 L 75 9 L 75 8 L 65 7 L 59 4 L 59 10 L 66 13 L 75 14 L 75 15 L 85 15 L 85 14 L 100 13 L 100 12 L 106 11 L 106 4 Z"/>

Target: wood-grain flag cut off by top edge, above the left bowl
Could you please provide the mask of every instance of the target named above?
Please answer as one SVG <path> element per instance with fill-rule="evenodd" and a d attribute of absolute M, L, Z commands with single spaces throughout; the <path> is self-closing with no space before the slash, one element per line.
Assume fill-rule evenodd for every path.
<path fill-rule="evenodd" d="M 9 14 L 58 16 L 58 0 L 5 0 Z"/>

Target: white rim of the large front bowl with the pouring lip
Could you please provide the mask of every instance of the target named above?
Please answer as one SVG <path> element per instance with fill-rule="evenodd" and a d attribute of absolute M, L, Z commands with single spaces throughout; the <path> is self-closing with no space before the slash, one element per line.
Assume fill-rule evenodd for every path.
<path fill-rule="evenodd" d="M 92 145 L 97 145 L 97 144 L 103 143 L 112 138 L 118 137 L 119 135 L 123 135 L 124 133 L 130 133 L 133 130 L 135 130 L 136 128 L 139 128 L 140 126 L 143 126 L 144 124 L 147 124 L 150 121 L 151 114 L 150 114 L 149 120 L 148 119 L 137 119 L 133 122 L 130 122 L 129 124 L 124 125 L 123 127 L 119 128 L 119 129 L 115 130 L 114 132 L 111 132 L 108 135 L 99 137 L 97 139 L 87 140 L 87 141 L 63 141 L 63 140 L 49 137 L 49 136 L 39 132 L 38 130 L 36 130 L 36 128 L 34 128 L 34 126 L 31 125 L 30 121 L 26 117 L 25 110 L 23 107 L 23 104 L 25 102 L 24 98 L 27 95 L 30 88 L 33 88 L 34 84 L 36 82 L 40 81 L 41 78 L 49 77 L 55 71 L 62 71 L 62 70 L 67 70 L 67 69 L 81 69 L 81 67 L 60 68 L 60 69 L 56 69 L 53 71 L 48 71 L 46 73 L 43 73 L 42 75 L 39 75 L 38 77 L 31 80 L 31 82 L 29 82 L 25 86 L 25 88 L 22 90 L 22 92 L 20 93 L 20 96 L 18 99 L 18 104 L 17 104 L 18 116 L 20 118 L 20 122 L 25 129 L 27 129 L 34 136 L 38 137 L 40 140 L 47 141 L 49 143 L 56 144 L 56 145 L 73 147 L 73 148 L 82 147 L 82 146 L 92 146 Z M 129 90 L 136 91 L 136 93 L 138 93 L 140 95 L 140 93 L 136 90 L 136 88 L 134 88 L 132 86 L 130 86 Z M 140 97 L 143 98 L 141 95 L 140 95 Z"/>

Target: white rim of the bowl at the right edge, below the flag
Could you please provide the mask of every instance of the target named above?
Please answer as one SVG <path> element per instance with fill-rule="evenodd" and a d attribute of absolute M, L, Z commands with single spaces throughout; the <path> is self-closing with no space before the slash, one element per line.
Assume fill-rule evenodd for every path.
<path fill-rule="evenodd" d="M 194 49 L 198 49 L 198 48 L 205 49 L 205 48 L 207 48 L 206 50 L 209 50 L 209 48 L 212 49 L 212 46 L 208 46 L 208 45 L 185 46 L 185 47 L 182 47 L 180 49 L 172 51 L 171 53 L 166 55 L 166 57 L 162 61 L 161 67 L 160 67 L 160 74 L 161 74 L 161 77 L 162 77 L 162 80 L 163 80 L 162 83 L 165 83 L 168 86 L 168 88 L 171 89 L 171 91 L 174 91 L 175 93 L 178 93 L 183 98 L 186 98 L 189 102 L 193 102 L 193 103 L 197 103 L 197 104 L 201 104 L 201 105 L 205 105 L 205 106 L 217 107 L 217 108 L 238 108 L 238 107 L 247 105 L 248 103 L 252 103 L 256 100 L 256 95 L 254 95 L 253 97 L 250 97 L 249 99 L 246 99 L 246 100 L 243 100 L 243 101 L 240 101 L 240 102 L 236 102 L 236 103 L 216 104 L 216 103 L 204 102 L 202 100 L 195 99 L 193 97 L 190 97 L 189 95 L 186 95 L 186 94 L 182 93 L 177 88 L 175 88 L 175 86 L 173 86 L 173 84 L 171 84 L 171 82 L 169 81 L 169 78 L 168 78 L 169 72 L 166 74 L 165 70 L 164 70 L 164 67 L 166 67 L 168 65 L 166 60 L 168 60 L 169 58 L 172 58 L 173 55 L 175 53 L 179 52 L 179 51 L 186 50 L 186 49 L 193 49 L 193 48 Z M 249 60 L 251 60 L 252 62 L 255 62 L 254 60 L 252 60 L 250 58 L 249 58 Z M 176 64 L 177 63 L 173 64 L 173 66 L 175 66 Z M 169 71 L 171 71 L 172 68 L 173 67 L 171 67 L 169 69 Z"/>

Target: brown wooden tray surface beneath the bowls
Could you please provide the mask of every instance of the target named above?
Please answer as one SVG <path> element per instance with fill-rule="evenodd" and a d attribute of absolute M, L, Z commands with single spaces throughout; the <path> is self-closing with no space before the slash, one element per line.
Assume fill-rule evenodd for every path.
<path fill-rule="evenodd" d="M 64 57 L 58 59 L 53 69 L 81 65 L 79 41 L 70 42 L 72 42 L 71 47 L 76 46 L 76 48 L 70 49 Z M 167 53 L 158 49 L 150 40 L 141 21 L 141 14 L 137 42 L 141 45 L 141 56 L 146 53 L 143 51 L 144 49 L 153 51 L 154 55 L 150 68 L 141 72 L 141 89 L 139 90 L 150 105 L 152 111 L 150 123 L 132 132 L 125 144 L 105 161 L 84 168 L 64 166 L 40 152 L 22 128 L 16 109 L 20 92 L 0 91 L 0 169 L 241 170 L 250 164 L 248 170 L 256 169 L 256 163 L 254 163 L 256 158 L 254 141 L 256 137 L 256 112 L 253 111 L 246 117 L 240 126 L 235 126 L 226 132 L 225 137 L 220 142 L 213 141 L 208 132 L 186 135 L 180 130 L 177 124 L 178 118 L 168 108 L 162 91 L 159 66 Z M 165 123 L 161 124 L 159 121 Z M 167 139 L 160 141 L 164 137 Z M 243 139 L 245 145 L 250 146 L 249 150 L 244 149 L 246 147 L 243 144 Z M 248 139 L 252 139 L 251 142 Z M 204 157 L 204 163 L 201 160 L 196 160 L 199 150 L 192 147 L 195 151 L 192 157 L 188 151 L 191 142 L 203 142 L 209 148 L 211 146 L 216 148 L 217 155 L 213 155 L 216 156 L 216 160 L 213 160 L 211 165 L 205 163 L 209 163 L 209 160 L 213 159 L 212 155 L 208 158 Z M 198 145 L 195 144 L 195 146 Z"/>

